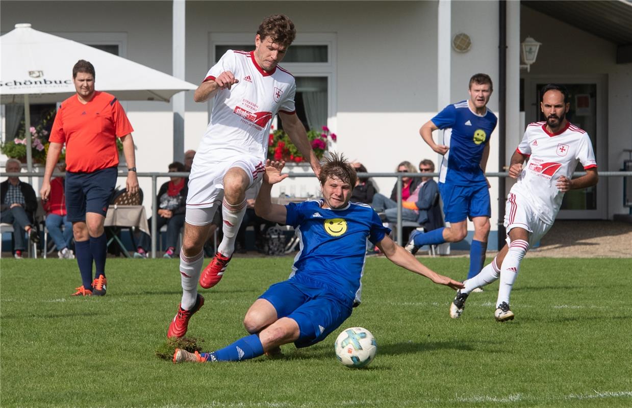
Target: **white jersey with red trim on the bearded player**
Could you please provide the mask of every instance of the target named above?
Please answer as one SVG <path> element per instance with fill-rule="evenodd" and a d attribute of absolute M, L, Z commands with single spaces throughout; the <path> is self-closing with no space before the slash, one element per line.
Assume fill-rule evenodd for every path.
<path fill-rule="evenodd" d="M 571 179 L 578 162 L 584 169 L 597 167 L 588 133 L 571 123 L 554 134 L 547 132 L 546 122 L 531 123 L 516 150 L 529 159 L 511 193 L 523 196 L 547 224 L 553 224 L 564 197 L 557 179 Z"/>

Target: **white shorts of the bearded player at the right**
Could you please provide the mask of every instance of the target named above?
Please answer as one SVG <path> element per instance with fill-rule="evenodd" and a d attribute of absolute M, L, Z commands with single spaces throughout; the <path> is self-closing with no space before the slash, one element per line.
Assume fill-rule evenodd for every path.
<path fill-rule="evenodd" d="M 509 231 L 515 227 L 529 231 L 529 246 L 533 247 L 544 237 L 553 224 L 547 224 L 540 220 L 531 208 L 529 201 L 523 196 L 509 193 L 505 204 L 505 229 L 507 231 L 507 244 L 509 244 Z"/>

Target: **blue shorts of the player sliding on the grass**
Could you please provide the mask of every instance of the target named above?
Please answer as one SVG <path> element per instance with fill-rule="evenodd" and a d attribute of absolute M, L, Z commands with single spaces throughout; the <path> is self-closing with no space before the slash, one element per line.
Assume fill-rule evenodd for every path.
<path fill-rule="evenodd" d="M 343 301 L 323 287 L 304 285 L 289 279 L 274 284 L 259 299 L 272 303 L 277 318 L 288 317 L 298 323 L 297 348 L 308 347 L 327 337 L 349 316 L 353 300 Z"/>

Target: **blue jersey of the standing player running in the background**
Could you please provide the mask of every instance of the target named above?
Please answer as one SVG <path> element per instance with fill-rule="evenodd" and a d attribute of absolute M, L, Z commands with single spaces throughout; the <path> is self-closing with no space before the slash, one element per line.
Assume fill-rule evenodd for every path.
<path fill-rule="evenodd" d="M 496 128 L 498 118 L 492 111 L 480 116 L 470 110 L 468 101 L 447 105 L 432 118 L 432 123 L 443 131 L 441 144 L 449 150 L 441 160 L 439 183 L 455 186 L 485 184 L 485 174 L 480 168 L 485 145 Z"/>

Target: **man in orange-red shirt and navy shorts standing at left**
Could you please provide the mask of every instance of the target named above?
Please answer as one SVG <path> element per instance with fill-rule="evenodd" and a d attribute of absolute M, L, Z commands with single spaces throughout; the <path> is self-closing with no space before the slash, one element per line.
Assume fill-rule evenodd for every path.
<path fill-rule="evenodd" d="M 94 90 L 94 66 L 80 59 L 73 67 L 76 95 L 62 102 L 52 125 L 40 194 L 47 200 L 51 175 L 66 143 L 66 210 L 73 223 L 82 283 L 73 296 L 106 294 L 107 240 L 103 224 L 118 176 L 116 138 L 128 164 L 127 191 L 138 192 L 133 128 L 116 97 Z M 92 263 L 95 278 L 92 279 Z"/>

